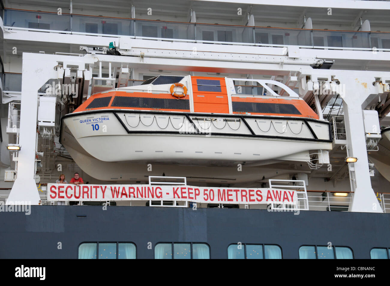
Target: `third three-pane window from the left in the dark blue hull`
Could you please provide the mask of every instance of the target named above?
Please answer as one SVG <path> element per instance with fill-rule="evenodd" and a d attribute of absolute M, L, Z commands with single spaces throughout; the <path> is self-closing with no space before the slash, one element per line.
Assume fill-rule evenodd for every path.
<path fill-rule="evenodd" d="M 263 255 L 264 254 L 264 255 Z M 271 244 L 231 244 L 228 259 L 282 259 L 282 249 Z"/>

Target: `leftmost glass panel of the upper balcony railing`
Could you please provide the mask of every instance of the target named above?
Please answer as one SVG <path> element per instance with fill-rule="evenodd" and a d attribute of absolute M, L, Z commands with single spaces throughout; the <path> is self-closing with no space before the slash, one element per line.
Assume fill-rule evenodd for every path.
<path fill-rule="evenodd" d="M 5 10 L 4 26 L 55 31 L 70 31 L 70 15 Z"/>

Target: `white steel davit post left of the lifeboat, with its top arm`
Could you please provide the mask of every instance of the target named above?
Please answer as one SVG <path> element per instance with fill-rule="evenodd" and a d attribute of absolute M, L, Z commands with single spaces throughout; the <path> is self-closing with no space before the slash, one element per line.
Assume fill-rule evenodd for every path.
<path fill-rule="evenodd" d="M 39 204 L 39 193 L 35 184 L 35 142 L 37 136 L 38 89 L 50 78 L 57 78 L 54 67 L 58 62 L 93 64 L 84 57 L 23 53 L 23 73 L 20 111 L 21 150 L 18 152 L 18 170 L 6 204 Z"/>

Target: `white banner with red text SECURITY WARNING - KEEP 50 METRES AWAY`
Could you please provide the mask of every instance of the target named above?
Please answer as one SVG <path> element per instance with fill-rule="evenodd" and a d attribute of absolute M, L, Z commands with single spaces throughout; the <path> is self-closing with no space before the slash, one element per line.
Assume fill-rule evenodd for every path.
<path fill-rule="evenodd" d="M 297 203 L 295 190 L 209 188 L 184 185 L 48 184 L 48 201 L 191 201 L 196 203 Z"/>

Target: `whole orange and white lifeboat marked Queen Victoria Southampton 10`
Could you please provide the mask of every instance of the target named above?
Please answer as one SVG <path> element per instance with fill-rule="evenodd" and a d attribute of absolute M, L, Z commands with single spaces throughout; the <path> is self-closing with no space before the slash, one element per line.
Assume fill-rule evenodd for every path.
<path fill-rule="evenodd" d="M 165 173 L 246 182 L 284 172 L 260 166 L 307 162 L 309 151 L 332 149 L 330 123 L 289 87 L 234 80 L 245 81 L 160 75 L 93 94 L 62 118 L 60 142 L 85 172 L 105 181 Z"/>

